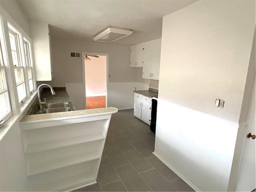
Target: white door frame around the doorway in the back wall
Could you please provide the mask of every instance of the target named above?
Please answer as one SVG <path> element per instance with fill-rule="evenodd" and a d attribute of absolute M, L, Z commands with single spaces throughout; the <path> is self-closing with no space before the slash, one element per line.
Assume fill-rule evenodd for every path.
<path fill-rule="evenodd" d="M 86 108 L 86 84 L 85 84 L 85 62 L 84 55 L 99 55 L 106 56 L 106 107 L 108 107 L 108 53 L 96 53 L 96 52 L 82 52 L 82 68 L 83 68 L 83 84 L 84 84 L 84 98 Z"/>

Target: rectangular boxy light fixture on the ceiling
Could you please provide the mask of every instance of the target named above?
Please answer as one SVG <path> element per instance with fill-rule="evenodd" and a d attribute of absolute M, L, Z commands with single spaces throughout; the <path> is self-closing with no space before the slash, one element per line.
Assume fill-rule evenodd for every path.
<path fill-rule="evenodd" d="M 100 41 L 100 42 L 113 42 L 118 39 L 124 38 L 126 36 L 129 36 L 132 34 L 133 31 L 130 29 L 123 29 L 118 27 L 109 27 L 97 36 L 93 38 L 94 41 Z"/>

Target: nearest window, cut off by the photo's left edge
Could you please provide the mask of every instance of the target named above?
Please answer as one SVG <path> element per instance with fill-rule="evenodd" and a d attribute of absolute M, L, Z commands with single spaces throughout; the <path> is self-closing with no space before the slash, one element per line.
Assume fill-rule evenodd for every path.
<path fill-rule="evenodd" d="M 0 122 L 7 120 L 12 116 L 10 96 L 6 78 L 6 68 L 4 66 L 3 51 L 5 50 L 2 31 L 2 22 L 0 18 Z M 2 121 L 3 122 L 3 121 Z M 1 127 L 1 125 L 0 125 Z"/>

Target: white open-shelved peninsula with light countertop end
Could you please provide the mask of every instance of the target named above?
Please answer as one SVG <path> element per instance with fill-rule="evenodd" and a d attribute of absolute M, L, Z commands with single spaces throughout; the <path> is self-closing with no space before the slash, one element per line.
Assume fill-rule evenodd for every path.
<path fill-rule="evenodd" d="M 32 121 L 24 116 L 20 131 L 28 191 L 72 191 L 96 183 L 111 114 L 116 112 L 80 110 L 77 116 L 63 112 L 65 118 Z"/>

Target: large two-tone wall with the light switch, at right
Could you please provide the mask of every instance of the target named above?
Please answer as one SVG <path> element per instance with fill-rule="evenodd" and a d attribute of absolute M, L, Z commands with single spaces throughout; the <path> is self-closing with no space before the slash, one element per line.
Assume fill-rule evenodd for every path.
<path fill-rule="evenodd" d="M 234 189 L 254 28 L 252 0 L 202 0 L 163 18 L 155 154 L 195 190 Z"/>

